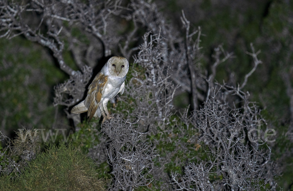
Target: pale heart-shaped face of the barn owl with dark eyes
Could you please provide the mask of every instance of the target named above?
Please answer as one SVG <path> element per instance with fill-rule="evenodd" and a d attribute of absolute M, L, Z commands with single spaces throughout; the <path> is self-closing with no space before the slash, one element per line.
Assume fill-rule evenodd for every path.
<path fill-rule="evenodd" d="M 128 61 L 126 58 L 113 56 L 108 60 L 108 69 L 111 76 L 123 78 L 128 72 Z"/>

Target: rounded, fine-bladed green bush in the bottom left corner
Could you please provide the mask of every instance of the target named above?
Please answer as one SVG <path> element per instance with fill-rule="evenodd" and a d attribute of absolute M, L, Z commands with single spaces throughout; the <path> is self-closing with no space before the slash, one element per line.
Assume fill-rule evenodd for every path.
<path fill-rule="evenodd" d="M 72 145 L 49 146 L 37 155 L 20 177 L 1 177 L 0 190 L 15 191 L 103 191 L 94 162 Z"/>

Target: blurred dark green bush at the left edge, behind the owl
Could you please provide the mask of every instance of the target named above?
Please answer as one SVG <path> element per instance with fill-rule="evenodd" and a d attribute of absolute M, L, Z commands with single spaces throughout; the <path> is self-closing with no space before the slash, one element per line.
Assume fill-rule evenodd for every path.
<path fill-rule="evenodd" d="M 0 116 L 5 130 L 53 124 L 51 91 L 65 76 L 43 50 L 21 37 L 0 39 Z"/>

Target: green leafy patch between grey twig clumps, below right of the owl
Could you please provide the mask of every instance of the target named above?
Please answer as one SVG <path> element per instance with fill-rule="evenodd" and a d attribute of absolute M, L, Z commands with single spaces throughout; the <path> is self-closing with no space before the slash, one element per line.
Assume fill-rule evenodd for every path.
<path fill-rule="evenodd" d="M 160 158 L 167 158 L 164 164 L 164 171 L 170 176 L 171 172 L 184 174 L 184 167 L 189 162 L 196 163 L 198 159 L 203 161 L 209 159 L 209 148 L 203 143 L 194 142 L 198 131 L 193 127 L 187 127 L 177 115 L 171 117 L 171 123 L 167 126 L 168 130 L 158 128 L 156 134 L 151 134 L 148 139 L 151 143 L 156 143 L 156 149 Z M 180 125 L 178 125 L 180 124 Z M 161 168 L 162 162 L 156 158 L 154 160 L 156 168 Z M 146 190 L 156 191 L 154 188 L 160 188 L 161 181 L 154 180 L 151 185 L 144 187 Z"/>

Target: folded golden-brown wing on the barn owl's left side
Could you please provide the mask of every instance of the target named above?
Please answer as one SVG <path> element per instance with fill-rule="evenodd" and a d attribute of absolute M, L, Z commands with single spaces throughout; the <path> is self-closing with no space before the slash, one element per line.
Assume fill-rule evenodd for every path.
<path fill-rule="evenodd" d="M 94 116 L 96 110 L 102 99 L 102 95 L 105 91 L 108 77 L 99 72 L 93 82 L 88 86 L 87 96 L 84 100 L 84 105 L 87 108 L 87 117 L 89 121 Z"/>

